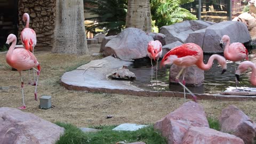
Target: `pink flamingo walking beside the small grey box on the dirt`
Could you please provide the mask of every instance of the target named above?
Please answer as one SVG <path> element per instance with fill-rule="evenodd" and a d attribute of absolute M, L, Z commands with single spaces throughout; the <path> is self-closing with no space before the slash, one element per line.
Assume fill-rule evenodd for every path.
<path fill-rule="evenodd" d="M 10 43 L 12 43 L 12 45 L 10 46 L 9 51 L 6 54 L 6 62 L 11 67 L 17 69 L 20 74 L 23 106 L 19 107 L 19 109 L 26 109 L 25 102 L 24 102 L 24 92 L 23 92 L 24 84 L 22 81 L 21 70 L 27 70 L 30 68 L 35 69 L 34 67 L 37 67 L 38 70 L 35 69 L 37 71 L 37 79 L 36 79 L 36 88 L 37 88 L 37 81 L 41 71 L 41 67 L 33 53 L 25 49 L 14 49 L 17 43 L 17 37 L 13 34 L 10 34 L 7 37 L 6 44 L 10 44 Z M 35 100 L 37 100 L 36 88 L 35 88 Z"/>

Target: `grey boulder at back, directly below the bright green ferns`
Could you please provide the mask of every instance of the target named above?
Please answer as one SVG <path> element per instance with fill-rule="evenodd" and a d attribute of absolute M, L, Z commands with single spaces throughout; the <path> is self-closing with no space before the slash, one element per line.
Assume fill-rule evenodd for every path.
<path fill-rule="evenodd" d="M 173 43 L 175 41 L 180 41 L 181 43 L 185 43 L 187 37 L 193 31 L 204 29 L 208 26 L 211 26 L 213 23 L 201 21 L 201 20 L 191 20 L 191 21 L 183 21 L 180 23 L 175 23 L 170 26 L 163 26 L 160 28 L 159 33 L 164 34 L 166 44 Z"/>

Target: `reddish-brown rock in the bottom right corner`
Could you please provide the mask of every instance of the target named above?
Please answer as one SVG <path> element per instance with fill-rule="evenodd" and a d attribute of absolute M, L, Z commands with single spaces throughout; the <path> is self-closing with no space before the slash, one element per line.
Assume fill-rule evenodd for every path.
<path fill-rule="evenodd" d="M 253 143 L 255 137 L 255 125 L 253 121 L 234 105 L 222 110 L 219 117 L 221 131 L 236 135 L 244 140 L 244 143 Z"/>

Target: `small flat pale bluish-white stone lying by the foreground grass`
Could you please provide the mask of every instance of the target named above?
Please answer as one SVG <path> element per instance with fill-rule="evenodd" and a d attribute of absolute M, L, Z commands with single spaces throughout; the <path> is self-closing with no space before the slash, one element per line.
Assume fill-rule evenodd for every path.
<path fill-rule="evenodd" d="M 125 123 L 125 124 L 118 125 L 117 127 L 115 127 L 112 130 L 113 131 L 137 131 L 145 126 L 147 126 L 147 125 Z"/>

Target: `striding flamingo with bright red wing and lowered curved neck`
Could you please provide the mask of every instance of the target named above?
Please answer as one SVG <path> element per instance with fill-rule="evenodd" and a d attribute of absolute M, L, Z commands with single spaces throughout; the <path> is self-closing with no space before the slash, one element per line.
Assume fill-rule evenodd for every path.
<path fill-rule="evenodd" d="M 179 82 L 179 77 L 183 73 L 182 83 L 179 82 L 180 85 L 183 86 L 184 90 L 184 101 L 186 100 L 185 89 L 192 95 L 193 99 L 196 101 L 196 96 L 187 89 L 185 86 L 185 75 L 183 70 L 187 67 L 196 65 L 198 68 L 203 70 L 209 70 L 212 67 L 213 60 L 216 59 L 220 63 L 222 67 L 222 73 L 225 73 L 227 70 L 226 59 L 218 54 L 213 54 L 209 58 L 207 64 L 205 65 L 203 62 L 203 50 L 202 48 L 194 43 L 182 44 L 180 46 L 174 47 L 172 50 L 167 52 L 164 55 L 164 58 L 161 61 L 161 66 L 164 65 L 172 65 L 173 63 L 177 66 L 182 67 L 179 74 L 175 77 Z"/>

